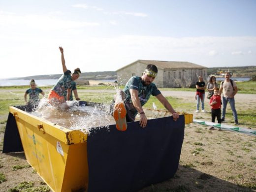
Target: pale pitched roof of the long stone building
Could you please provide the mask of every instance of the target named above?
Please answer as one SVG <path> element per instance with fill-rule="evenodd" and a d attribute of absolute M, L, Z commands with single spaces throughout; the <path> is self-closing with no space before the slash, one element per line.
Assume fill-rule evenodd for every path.
<path fill-rule="evenodd" d="M 160 69 L 168 69 L 168 68 L 171 68 L 171 69 L 179 69 L 179 68 L 207 68 L 205 66 L 202 66 L 202 65 L 199 65 L 199 64 L 193 64 L 193 63 L 190 63 L 190 62 L 166 62 L 166 61 L 153 61 L 153 60 L 137 60 L 131 64 L 128 64 L 116 71 L 119 71 L 121 69 L 124 69 L 126 67 L 128 67 L 129 65 L 132 65 L 132 64 L 135 64 L 137 62 L 140 62 L 142 64 L 155 64 L 158 68 Z"/>

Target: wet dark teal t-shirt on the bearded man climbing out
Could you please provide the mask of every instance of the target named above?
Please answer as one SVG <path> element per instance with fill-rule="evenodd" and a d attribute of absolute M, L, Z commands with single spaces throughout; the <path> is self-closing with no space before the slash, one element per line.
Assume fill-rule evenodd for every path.
<path fill-rule="evenodd" d="M 161 92 L 158 90 L 157 86 L 154 83 L 151 83 L 148 86 L 144 86 L 142 83 L 141 77 L 139 76 L 131 77 L 128 80 L 123 91 L 125 92 L 126 107 L 128 110 L 130 110 L 131 113 L 134 114 L 134 116 L 136 116 L 138 112 L 132 104 L 131 96 L 129 92 L 130 89 L 134 89 L 138 91 L 138 96 L 139 96 L 141 106 L 143 106 L 149 100 L 151 95 L 158 96 L 159 94 L 161 94 Z"/>

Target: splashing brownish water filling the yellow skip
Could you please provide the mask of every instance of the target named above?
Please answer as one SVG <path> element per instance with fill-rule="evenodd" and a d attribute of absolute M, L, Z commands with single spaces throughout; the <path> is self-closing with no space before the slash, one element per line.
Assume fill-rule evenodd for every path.
<path fill-rule="evenodd" d="M 108 128 L 115 124 L 107 105 L 79 106 L 77 101 L 67 101 L 65 104 L 69 109 L 54 107 L 47 98 L 43 98 L 32 114 L 64 128 L 81 130 L 87 134 L 90 134 L 92 128 Z"/>

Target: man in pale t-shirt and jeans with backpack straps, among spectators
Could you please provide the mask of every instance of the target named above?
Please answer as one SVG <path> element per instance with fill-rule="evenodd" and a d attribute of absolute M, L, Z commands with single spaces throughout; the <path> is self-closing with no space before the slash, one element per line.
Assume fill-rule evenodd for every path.
<path fill-rule="evenodd" d="M 237 112 L 235 110 L 235 98 L 234 98 L 237 91 L 238 89 L 235 81 L 230 79 L 230 73 L 226 72 L 225 80 L 221 83 L 221 88 L 220 88 L 220 95 L 223 93 L 222 122 L 225 121 L 226 105 L 227 105 L 227 102 L 229 102 L 232 113 L 233 113 L 233 118 L 235 120 L 235 125 L 239 125 L 238 119 L 237 119 Z"/>

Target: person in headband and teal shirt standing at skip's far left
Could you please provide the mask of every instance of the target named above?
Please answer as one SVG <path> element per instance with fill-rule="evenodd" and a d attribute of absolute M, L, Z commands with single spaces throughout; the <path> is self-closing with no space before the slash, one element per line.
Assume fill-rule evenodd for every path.
<path fill-rule="evenodd" d="M 35 106 L 38 105 L 38 103 L 40 101 L 39 94 L 42 94 L 44 96 L 44 93 L 40 88 L 36 87 L 35 82 L 34 82 L 33 79 L 31 79 L 31 81 L 30 81 L 30 86 L 31 86 L 31 88 L 28 89 L 25 92 L 24 98 L 25 98 L 25 101 L 26 101 L 27 105 L 33 105 L 35 107 Z M 29 102 L 27 102 L 27 95 L 28 94 L 30 96 Z"/>

